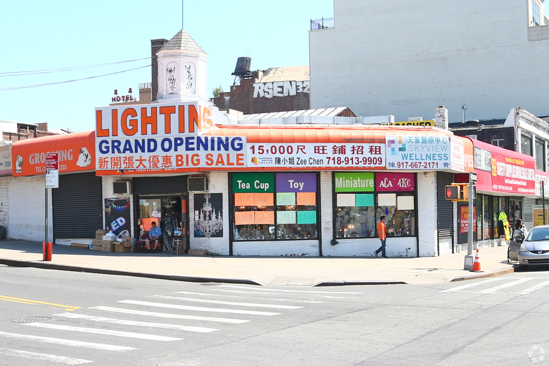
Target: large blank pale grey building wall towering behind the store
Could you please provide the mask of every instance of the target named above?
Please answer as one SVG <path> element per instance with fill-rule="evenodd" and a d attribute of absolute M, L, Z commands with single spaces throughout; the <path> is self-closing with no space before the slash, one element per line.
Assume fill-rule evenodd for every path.
<path fill-rule="evenodd" d="M 450 121 L 461 121 L 463 104 L 467 119 L 505 118 L 515 106 L 549 114 L 549 32 L 529 37 L 544 27 L 529 27 L 530 7 L 334 0 L 334 28 L 309 33 L 311 108 L 345 105 L 395 121 L 431 119 L 438 105 Z"/>

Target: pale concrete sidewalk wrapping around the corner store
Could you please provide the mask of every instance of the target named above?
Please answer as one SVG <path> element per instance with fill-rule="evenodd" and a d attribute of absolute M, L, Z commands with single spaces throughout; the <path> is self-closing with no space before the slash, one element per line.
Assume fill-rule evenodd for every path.
<path fill-rule="evenodd" d="M 507 262 L 507 246 L 480 249 L 482 273 L 463 271 L 465 254 L 421 258 L 177 256 L 102 252 L 54 245 L 52 261 L 43 262 L 42 243 L 0 240 L 0 264 L 8 266 L 197 282 L 271 286 L 423 285 L 513 272 L 513 264 Z"/>

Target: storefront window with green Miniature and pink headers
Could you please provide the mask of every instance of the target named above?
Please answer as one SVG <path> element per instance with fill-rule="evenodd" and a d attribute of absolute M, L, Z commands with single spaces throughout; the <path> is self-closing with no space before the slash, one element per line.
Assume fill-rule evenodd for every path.
<path fill-rule="evenodd" d="M 413 173 L 335 173 L 335 237 L 375 238 L 380 216 L 388 237 L 416 235 L 414 185 Z"/>

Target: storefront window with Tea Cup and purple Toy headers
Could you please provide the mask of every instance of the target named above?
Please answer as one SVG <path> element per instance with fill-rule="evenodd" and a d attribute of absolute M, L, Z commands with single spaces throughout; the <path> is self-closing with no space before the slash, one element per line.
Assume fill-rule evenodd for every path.
<path fill-rule="evenodd" d="M 238 173 L 232 182 L 234 240 L 318 238 L 316 173 Z"/>

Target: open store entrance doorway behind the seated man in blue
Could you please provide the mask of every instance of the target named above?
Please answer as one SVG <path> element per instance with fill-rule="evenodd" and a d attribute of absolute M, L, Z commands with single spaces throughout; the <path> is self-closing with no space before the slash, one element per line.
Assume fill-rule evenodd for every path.
<path fill-rule="evenodd" d="M 139 237 L 147 233 L 152 222 L 162 230 L 163 250 L 171 251 L 174 240 L 181 240 L 181 248 L 188 248 L 187 195 L 138 196 Z M 174 249 L 177 250 L 177 249 Z M 179 250 L 182 254 L 182 249 Z"/>

